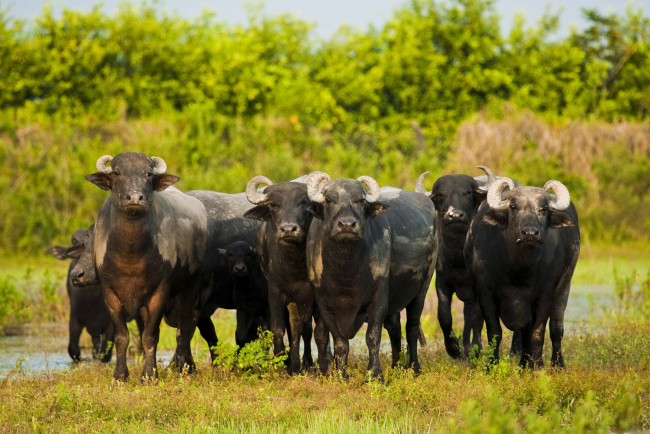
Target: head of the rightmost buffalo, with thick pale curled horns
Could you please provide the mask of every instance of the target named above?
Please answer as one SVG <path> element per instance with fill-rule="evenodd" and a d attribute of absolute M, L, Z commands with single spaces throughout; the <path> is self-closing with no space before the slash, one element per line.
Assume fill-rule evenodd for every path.
<path fill-rule="evenodd" d="M 515 187 L 509 178 L 501 178 L 490 186 L 487 204 L 490 212 L 484 221 L 505 227 L 506 241 L 517 248 L 534 248 L 544 243 L 548 229 L 577 223 L 566 213 L 571 198 L 559 181 L 548 181 L 544 188 Z"/>

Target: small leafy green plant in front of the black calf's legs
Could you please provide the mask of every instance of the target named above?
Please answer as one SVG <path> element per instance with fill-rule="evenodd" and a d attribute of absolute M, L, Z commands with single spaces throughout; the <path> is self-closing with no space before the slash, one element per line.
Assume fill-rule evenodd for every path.
<path fill-rule="evenodd" d="M 228 371 L 237 370 L 244 376 L 272 378 L 277 375 L 280 368 L 285 366 L 285 361 L 289 357 L 289 348 L 282 354 L 273 355 L 272 346 L 273 333 L 260 329 L 258 338 L 242 348 L 219 342 L 214 347 L 217 356 L 213 364 Z"/>

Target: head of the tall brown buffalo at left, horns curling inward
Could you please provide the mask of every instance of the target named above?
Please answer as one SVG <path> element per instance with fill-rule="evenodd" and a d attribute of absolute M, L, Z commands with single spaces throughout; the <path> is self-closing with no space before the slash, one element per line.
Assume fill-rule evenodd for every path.
<path fill-rule="evenodd" d="M 148 211 L 154 191 L 162 191 L 178 181 L 177 176 L 165 173 L 166 168 L 159 157 L 123 152 L 114 158 L 100 157 L 99 172 L 86 179 L 102 190 L 111 190 L 109 200 L 113 205 L 126 216 L 137 218 Z"/>

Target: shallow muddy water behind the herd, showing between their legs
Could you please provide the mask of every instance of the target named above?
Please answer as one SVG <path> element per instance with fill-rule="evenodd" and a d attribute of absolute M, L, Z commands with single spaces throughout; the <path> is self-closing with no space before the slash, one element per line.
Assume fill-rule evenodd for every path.
<path fill-rule="evenodd" d="M 432 304 L 435 305 L 435 293 L 432 294 L 429 297 L 433 297 Z M 600 331 L 597 319 L 602 317 L 613 305 L 613 286 L 574 286 L 565 314 L 565 333 L 582 334 Z M 436 310 L 430 303 L 427 303 L 427 307 L 426 313 L 435 315 Z M 455 312 L 458 314 L 462 310 L 459 312 L 459 309 L 456 308 Z M 68 330 L 66 325 L 25 326 L 10 329 L 8 332 L 8 335 L 0 336 L 0 378 L 11 373 L 20 372 L 30 375 L 47 370 L 73 367 L 67 353 Z M 432 336 L 429 337 L 429 340 L 435 338 Z M 365 348 L 363 336 L 355 337 L 354 341 L 359 341 L 359 346 Z M 91 363 L 92 350 L 89 339 L 84 345 L 82 337 L 81 344 L 82 363 Z M 352 344 L 354 342 L 351 342 L 351 346 L 354 346 Z M 313 347 L 313 351 L 316 351 L 315 347 Z M 382 339 L 382 351 L 390 351 L 387 339 Z M 172 353 L 172 351 L 158 351 L 157 358 L 160 366 L 166 366 L 169 363 Z"/>

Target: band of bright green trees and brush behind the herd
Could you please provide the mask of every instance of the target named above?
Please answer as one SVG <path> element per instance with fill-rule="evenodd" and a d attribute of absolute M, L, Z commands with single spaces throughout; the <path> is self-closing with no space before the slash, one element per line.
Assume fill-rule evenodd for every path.
<path fill-rule="evenodd" d="M 584 11 L 516 19 L 490 0 L 412 0 L 382 28 L 328 40 L 290 15 L 246 26 L 156 3 L 114 16 L 0 12 L 0 250 L 40 253 L 88 226 L 106 195 L 84 180 L 104 153 L 163 157 L 179 187 L 242 191 L 311 170 L 565 182 L 587 239 L 648 240 L 650 19 Z"/>

